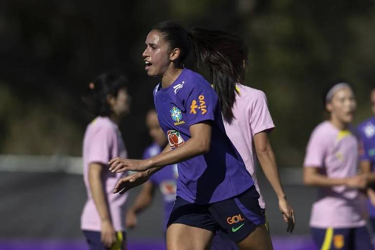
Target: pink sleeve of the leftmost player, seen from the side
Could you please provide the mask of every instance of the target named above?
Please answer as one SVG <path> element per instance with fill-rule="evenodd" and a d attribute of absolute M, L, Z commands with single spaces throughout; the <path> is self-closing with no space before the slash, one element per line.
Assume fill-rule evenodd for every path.
<path fill-rule="evenodd" d="M 115 157 L 112 152 L 117 150 L 116 131 L 110 127 L 101 127 L 92 137 L 89 145 L 87 162 L 107 165 Z M 116 155 L 117 156 L 117 155 Z"/>

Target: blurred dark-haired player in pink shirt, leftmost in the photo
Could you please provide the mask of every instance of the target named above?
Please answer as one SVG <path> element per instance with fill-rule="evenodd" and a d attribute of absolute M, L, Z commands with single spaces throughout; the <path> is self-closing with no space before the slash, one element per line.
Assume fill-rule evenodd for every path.
<path fill-rule="evenodd" d="M 83 180 L 87 201 L 81 217 L 81 229 L 91 250 L 124 250 L 126 197 L 113 195 L 113 185 L 123 173 L 108 171 L 115 156 L 126 157 L 118 124 L 129 111 L 127 81 L 117 73 L 104 73 L 89 84 L 84 98 L 97 116 L 86 128 L 83 140 Z"/>

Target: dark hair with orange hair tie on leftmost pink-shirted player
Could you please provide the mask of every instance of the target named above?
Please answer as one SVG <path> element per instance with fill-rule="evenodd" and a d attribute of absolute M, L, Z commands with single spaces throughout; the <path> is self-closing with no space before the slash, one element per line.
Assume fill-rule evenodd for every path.
<path fill-rule="evenodd" d="M 128 82 L 124 75 L 115 72 L 105 72 L 95 81 L 88 84 L 89 93 L 83 96 L 83 102 L 95 116 L 110 116 L 111 107 L 107 96 L 117 97 L 121 89 L 127 89 Z"/>

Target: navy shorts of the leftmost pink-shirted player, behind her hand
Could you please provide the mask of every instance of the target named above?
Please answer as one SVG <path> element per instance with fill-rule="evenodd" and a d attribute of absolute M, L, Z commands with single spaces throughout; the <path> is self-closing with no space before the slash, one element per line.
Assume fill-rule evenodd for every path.
<path fill-rule="evenodd" d="M 86 237 L 86 241 L 90 250 L 108 250 L 102 241 L 102 233 L 100 231 L 89 231 L 83 230 L 83 234 Z M 109 250 L 124 250 L 126 244 L 126 234 L 124 231 L 116 232 L 116 243 L 113 244 Z"/>

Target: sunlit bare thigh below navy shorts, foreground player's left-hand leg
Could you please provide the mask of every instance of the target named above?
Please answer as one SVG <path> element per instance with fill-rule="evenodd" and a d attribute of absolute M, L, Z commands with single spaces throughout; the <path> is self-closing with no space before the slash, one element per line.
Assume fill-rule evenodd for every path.
<path fill-rule="evenodd" d="M 209 250 L 213 232 L 173 223 L 167 229 L 167 250 Z"/>

